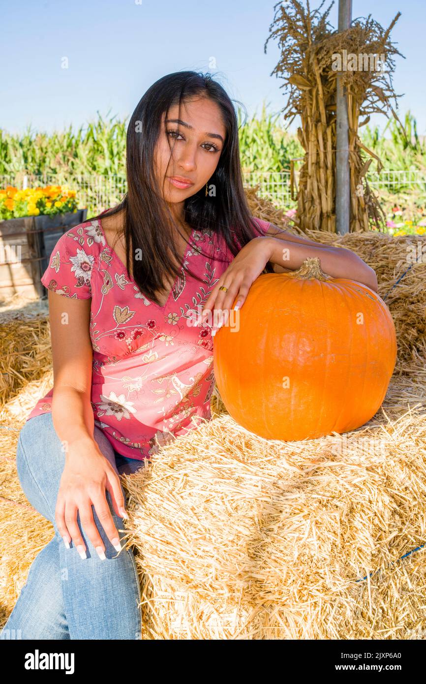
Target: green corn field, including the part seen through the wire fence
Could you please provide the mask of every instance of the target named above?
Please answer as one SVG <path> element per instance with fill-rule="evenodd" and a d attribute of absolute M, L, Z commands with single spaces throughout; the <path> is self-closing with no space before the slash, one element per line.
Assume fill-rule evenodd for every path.
<path fill-rule="evenodd" d="M 278 207 L 294 208 L 304 154 L 297 135 L 289 133 L 282 116 L 268 111 L 265 103 L 260 115 L 248 118 L 239 108 L 237 117 L 244 184 L 258 185 L 259 196 Z M 79 206 L 88 207 L 88 215 L 114 206 L 127 191 L 126 130 L 126 120 L 100 115 L 77 132 L 69 128 L 51 135 L 27 131 L 19 136 L 0 129 L 0 188 L 66 183 L 77 191 Z M 404 132 L 392 122 L 386 127 L 387 137 L 384 132 L 364 129 L 364 144 L 385 166 L 380 173 L 369 170 L 370 187 L 386 198 L 408 193 L 419 206 L 426 205 L 426 146 L 417 135 L 414 116 L 405 116 Z M 389 202 L 395 204 L 395 199 Z"/>

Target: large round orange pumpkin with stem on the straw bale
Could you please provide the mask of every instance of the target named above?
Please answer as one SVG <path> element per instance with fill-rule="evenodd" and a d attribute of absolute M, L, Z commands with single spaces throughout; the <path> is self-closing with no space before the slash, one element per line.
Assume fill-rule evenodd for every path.
<path fill-rule="evenodd" d="M 319 259 L 263 274 L 214 337 L 213 363 L 230 415 L 258 436 L 315 439 L 364 425 L 380 408 L 397 358 L 388 307 Z"/>

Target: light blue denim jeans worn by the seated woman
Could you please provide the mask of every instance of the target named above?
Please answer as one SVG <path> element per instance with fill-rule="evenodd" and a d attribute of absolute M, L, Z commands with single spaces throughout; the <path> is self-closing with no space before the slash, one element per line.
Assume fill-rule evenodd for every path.
<path fill-rule="evenodd" d="M 133 473 L 144 466 L 143 461 L 117 453 L 97 425 L 94 439 L 117 473 Z M 105 544 L 105 560 L 101 560 L 86 536 L 79 513 L 77 523 L 87 558 L 81 559 L 72 541 L 70 549 L 66 549 L 59 534 L 55 507 L 65 465 L 61 447 L 51 413 L 29 419 L 19 433 L 19 482 L 29 503 L 51 521 L 55 536 L 31 564 L 27 582 L 0 639 L 140 639 L 141 590 L 132 549 L 126 551 L 124 542 L 122 551 L 114 549 L 93 505 L 94 523 Z M 123 487 L 122 492 L 127 503 Z M 105 496 L 121 540 L 123 519 L 114 511 L 107 490 Z"/>

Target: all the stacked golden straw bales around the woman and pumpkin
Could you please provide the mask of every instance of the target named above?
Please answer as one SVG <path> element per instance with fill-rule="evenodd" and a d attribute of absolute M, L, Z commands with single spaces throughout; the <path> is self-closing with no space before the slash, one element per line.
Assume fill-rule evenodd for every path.
<path fill-rule="evenodd" d="M 267 200 L 250 191 L 248 200 L 253 215 L 301 234 Z M 215 389 L 210 423 L 123 476 L 145 639 L 405 639 L 426 628 L 425 551 L 398 560 L 426 542 L 425 265 L 393 287 L 407 247 L 425 238 L 303 235 L 349 248 L 377 272 L 399 346 L 384 404 L 354 432 L 284 443 L 237 425 Z M 0 412 L 1 626 L 53 536 L 14 462 L 18 431 L 53 384 L 47 315 L 0 321 L 0 344 L 12 378 Z"/>

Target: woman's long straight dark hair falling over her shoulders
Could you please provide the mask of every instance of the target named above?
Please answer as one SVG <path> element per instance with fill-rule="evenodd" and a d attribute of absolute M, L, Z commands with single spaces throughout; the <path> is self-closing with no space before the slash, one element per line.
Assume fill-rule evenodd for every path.
<path fill-rule="evenodd" d="M 173 239 L 174 231 L 179 228 L 155 180 L 155 146 L 163 112 L 167 118 L 169 108 L 178 103 L 180 114 L 181 103 L 195 96 L 210 98 L 219 106 L 226 137 L 215 172 L 208 181 L 208 185 L 215 185 L 215 196 L 206 196 L 202 187 L 185 200 L 183 219 L 191 228 L 201 232 L 209 229 L 215 236 L 222 236 L 233 256 L 239 251 L 235 238 L 243 247 L 261 234 L 252 221 L 245 198 L 239 159 L 238 120 L 224 88 L 210 74 L 195 71 L 177 71 L 155 81 L 137 103 L 127 129 L 127 194 L 119 205 L 90 220 L 107 218 L 124 210 L 127 272 L 130 274 L 132 244 L 133 280 L 139 290 L 156 304 L 159 304 L 156 291 L 163 289 L 165 274 L 177 278 L 181 266 L 176 267 L 180 255 Z M 136 248 L 140 248 L 142 259 L 135 259 Z M 169 256 L 170 251 L 175 261 Z M 202 278 L 190 269 L 186 271 L 202 282 Z M 270 262 L 266 264 L 265 272 L 273 272 Z"/>

